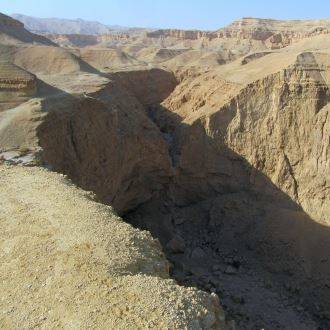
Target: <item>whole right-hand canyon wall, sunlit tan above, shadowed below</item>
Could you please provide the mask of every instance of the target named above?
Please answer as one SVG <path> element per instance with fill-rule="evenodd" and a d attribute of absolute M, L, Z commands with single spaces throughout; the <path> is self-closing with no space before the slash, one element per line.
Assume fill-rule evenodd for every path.
<path fill-rule="evenodd" d="M 304 299 L 317 294 L 324 310 L 329 304 L 326 278 L 330 273 L 325 261 L 330 244 L 329 57 L 327 52 L 293 53 L 289 61 L 286 57 L 283 68 L 281 54 L 267 56 L 188 77 L 163 102 L 170 115 L 160 116 L 157 122 L 173 137 L 172 159 L 178 173 L 171 192 L 174 206 L 169 207 L 173 207 L 169 214 L 177 225 L 163 216 L 162 226 L 167 228 L 163 240 L 170 241 L 171 232 L 183 237 L 188 256 L 196 248 L 188 241 L 200 239 L 197 247 L 204 246 L 209 254 L 214 251 L 209 245 L 232 237 L 233 244 L 240 246 L 241 240 L 258 250 L 269 269 L 292 274 L 291 280 L 300 283 Z M 282 67 L 279 71 L 277 64 Z M 178 122 L 181 124 L 175 124 Z M 238 192 L 241 195 L 235 199 Z M 228 199 L 233 204 L 225 206 Z M 201 200 L 204 204 L 200 205 L 197 201 Z M 263 200 L 259 214 L 257 200 Z M 247 210 L 249 204 L 255 207 L 253 215 Z M 173 211 L 178 206 L 179 219 Z M 160 228 L 148 218 L 151 210 L 148 205 L 129 217 L 137 223 L 146 217 L 147 228 L 161 237 Z M 190 212 L 197 210 L 201 212 L 198 218 L 210 226 L 209 233 L 218 230 L 216 238 L 201 239 L 201 234 L 189 229 Z M 157 216 L 161 218 L 160 213 Z M 230 219 L 230 224 L 224 219 Z M 199 223 L 198 219 L 192 221 Z M 201 231 L 205 222 L 200 224 Z M 255 240 L 262 248 L 256 247 Z M 169 245 L 178 267 L 195 271 L 188 256 L 183 262 L 171 249 Z M 246 255 L 244 247 L 237 249 Z M 217 283 L 209 273 L 204 276 Z M 312 282 L 306 284 L 306 278 L 313 279 L 309 288 Z"/>

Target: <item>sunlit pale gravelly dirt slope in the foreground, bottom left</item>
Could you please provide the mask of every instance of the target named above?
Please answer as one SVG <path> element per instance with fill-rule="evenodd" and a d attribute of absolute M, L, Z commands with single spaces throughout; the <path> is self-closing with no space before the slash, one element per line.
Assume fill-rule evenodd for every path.
<path fill-rule="evenodd" d="M 59 174 L 0 174 L 2 329 L 224 328 L 216 298 L 168 279 L 149 233 Z"/>

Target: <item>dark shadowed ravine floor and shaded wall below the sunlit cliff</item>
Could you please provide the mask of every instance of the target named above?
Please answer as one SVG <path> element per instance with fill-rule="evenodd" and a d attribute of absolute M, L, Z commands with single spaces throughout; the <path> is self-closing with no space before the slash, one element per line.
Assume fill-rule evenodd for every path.
<path fill-rule="evenodd" d="M 169 114 L 167 131 L 166 109 L 160 111 L 161 130 L 167 139 L 172 135 L 176 174 L 150 201 L 122 216 L 159 238 L 180 284 L 216 292 L 238 328 L 322 324 L 313 314 L 321 301 L 329 304 L 329 228 L 242 157 L 217 147 L 202 126 L 177 123 L 173 133 Z M 219 172 L 198 176 L 180 168 L 180 148 L 192 148 L 196 163 L 215 157 Z"/>

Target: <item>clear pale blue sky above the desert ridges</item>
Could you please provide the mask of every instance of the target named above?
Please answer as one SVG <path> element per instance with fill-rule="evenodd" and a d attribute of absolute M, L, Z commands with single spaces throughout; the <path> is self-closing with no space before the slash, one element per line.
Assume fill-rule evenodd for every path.
<path fill-rule="evenodd" d="M 330 1 L 0 0 L 0 11 L 37 17 L 83 18 L 109 25 L 215 30 L 244 16 L 330 18 Z"/>

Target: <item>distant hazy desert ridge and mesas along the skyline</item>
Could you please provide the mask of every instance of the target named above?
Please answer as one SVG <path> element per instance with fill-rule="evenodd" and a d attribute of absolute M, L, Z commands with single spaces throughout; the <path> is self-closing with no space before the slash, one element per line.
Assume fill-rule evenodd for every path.
<path fill-rule="evenodd" d="M 143 49 L 144 46 L 157 45 L 171 49 L 218 51 L 222 53 L 222 57 L 230 58 L 253 50 L 283 48 L 301 39 L 330 31 L 328 19 L 275 20 L 243 17 L 215 31 L 143 28 L 111 30 L 107 27 L 105 30 L 96 31 L 92 28 L 94 23 L 90 23 L 91 28 L 87 22 L 84 27 L 66 29 L 66 24 L 53 24 L 52 19 L 49 19 L 51 28 L 47 28 L 42 24 L 30 24 L 25 16 L 14 17 L 21 19 L 28 30 L 42 34 L 64 47 L 123 48 L 129 45 L 130 48 Z M 33 21 L 33 18 L 31 20 Z M 47 19 L 44 20 L 48 22 Z M 72 22 L 76 21 L 69 21 L 68 24 Z M 79 22 L 82 24 L 84 21 Z M 240 47 L 235 46 L 235 40 L 239 40 Z"/>

